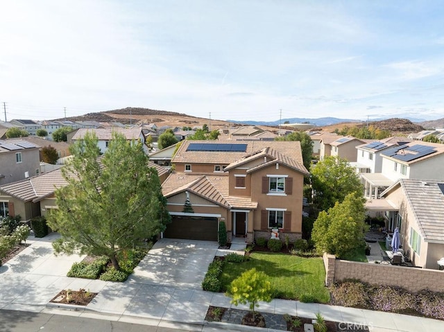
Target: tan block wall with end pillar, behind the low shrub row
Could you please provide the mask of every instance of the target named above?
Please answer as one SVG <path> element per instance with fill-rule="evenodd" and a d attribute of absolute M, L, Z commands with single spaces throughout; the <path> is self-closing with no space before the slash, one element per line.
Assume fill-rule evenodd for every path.
<path fill-rule="evenodd" d="M 441 270 L 341 261 L 331 254 L 324 254 L 323 261 L 326 286 L 333 281 L 359 279 L 370 284 L 399 286 L 411 292 L 425 288 L 442 292 L 444 289 L 444 271 Z"/>

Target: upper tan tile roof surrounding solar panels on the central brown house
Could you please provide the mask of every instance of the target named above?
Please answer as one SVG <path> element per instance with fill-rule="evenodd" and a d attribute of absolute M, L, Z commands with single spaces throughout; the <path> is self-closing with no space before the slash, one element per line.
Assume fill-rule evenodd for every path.
<path fill-rule="evenodd" d="M 223 152 L 223 151 L 187 151 L 190 143 L 232 143 L 239 142 L 234 141 L 183 141 L 182 145 L 178 149 L 178 152 L 173 157 L 171 162 L 174 163 L 190 163 L 190 164 L 232 164 L 234 161 L 253 155 L 255 152 L 259 152 L 264 148 L 271 147 L 274 150 L 281 152 L 282 155 L 286 155 L 292 158 L 298 163 L 302 163 L 302 153 L 300 150 L 299 141 L 242 141 L 239 144 L 246 144 L 247 148 L 245 152 Z"/>

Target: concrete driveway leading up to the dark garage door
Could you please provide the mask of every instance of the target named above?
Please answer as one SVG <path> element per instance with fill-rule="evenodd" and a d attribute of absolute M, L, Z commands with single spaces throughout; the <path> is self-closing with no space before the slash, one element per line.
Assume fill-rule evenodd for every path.
<path fill-rule="evenodd" d="M 128 278 L 135 283 L 201 289 L 219 245 L 212 241 L 162 238 Z"/>

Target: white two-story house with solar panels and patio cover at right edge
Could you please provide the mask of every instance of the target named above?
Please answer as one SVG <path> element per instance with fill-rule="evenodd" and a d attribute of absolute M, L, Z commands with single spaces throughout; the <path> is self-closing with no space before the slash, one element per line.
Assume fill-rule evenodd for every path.
<path fill-rule="evenodd" d="M 388 186 L 400 179 L 444 181 L 444 145 L 411 141 L 384 149 L 381 173 L 361 173 L 366 198 L 378 198 Z"/>

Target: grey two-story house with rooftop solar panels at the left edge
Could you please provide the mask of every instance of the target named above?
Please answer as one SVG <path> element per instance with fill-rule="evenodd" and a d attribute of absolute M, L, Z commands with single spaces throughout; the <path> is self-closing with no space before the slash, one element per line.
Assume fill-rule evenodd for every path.
<path fill-rule="evenodd" d="M 40 173 L 39 148 L 23 139 L 0 141 L 0 185 Z"/>

